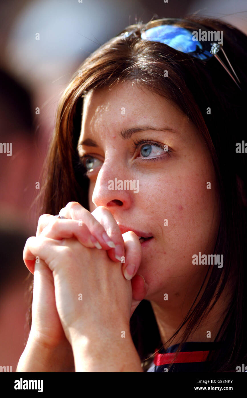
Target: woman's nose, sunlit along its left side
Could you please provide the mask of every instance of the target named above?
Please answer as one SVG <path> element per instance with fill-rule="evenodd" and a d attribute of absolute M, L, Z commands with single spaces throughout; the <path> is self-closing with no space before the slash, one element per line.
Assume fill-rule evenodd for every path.
<path fill-rule="evenodd" d="M 92 202 L 96 207 L 119 207 L 123 210 L 128 210 L 134 200 L 134 191 L 126 189 L 127 183 L 130 181 L 130 171 L 126 165 L 121 164 L 117 159 L 115 161 L 105 160 L 98 173 L 96 183 L 92 192 Z M 124 189 L 125 187 L 125 189 Z"/>

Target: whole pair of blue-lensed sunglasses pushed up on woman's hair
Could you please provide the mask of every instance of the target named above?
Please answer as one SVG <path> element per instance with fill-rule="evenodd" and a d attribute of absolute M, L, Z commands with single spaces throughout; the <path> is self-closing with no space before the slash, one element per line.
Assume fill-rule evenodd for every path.
<path fill-rule="evenodd" d="M 198 40 L 199 37 L 201 39 L 202 37 L 205 39 L 205 35 L 206 37 L 208 35 L 208 37 L 211 38 L 213 33 L 217 32 L 209 31 L 207 27 L 188 20 L 182 20 L 178 18 L 163 18 L 148 22 L 143 26 L 140 23 L 127 26 L 121 33 L 119 33 L 119 35 L 121 35 L 123 39 L 126 39 L 130 35 L 136 35 L 137 29 L 140 29 L 140 35 L 143 40 L 164 43 L 177 51 L 189 54 L 192 57 L 202 60 L 203 62 L 207 62 L 207 60 L 215 57 L 224 67 L 226 72 L 228 72 L 234 82 L 237 84 L 237 79 L 237 81 L 240 83 L 239 78 L 237 77 L 232 65 L 230 64 L 230 61 L 226 56 L 226 53 L 223 50 L 223 43 L 218 43 L 214 40 Z M 203 32 L 203 36 L 201 35 L 201 32 Z M 218 56 L 219 51 L 222 51 L 224 54 L 236 79 Z M 241 90 L 238 84 L 237 87 Z"/>

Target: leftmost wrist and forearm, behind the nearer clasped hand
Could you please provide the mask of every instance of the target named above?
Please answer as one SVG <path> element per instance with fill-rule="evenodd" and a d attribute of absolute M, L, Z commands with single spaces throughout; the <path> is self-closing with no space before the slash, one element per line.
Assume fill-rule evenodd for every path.
<path fill-rule="evenodd" d="M 52 271 L 42 259 L 34 264 L 32 325 L 16 371 L 74 372 L 72 347 L 57 313 Z"/>

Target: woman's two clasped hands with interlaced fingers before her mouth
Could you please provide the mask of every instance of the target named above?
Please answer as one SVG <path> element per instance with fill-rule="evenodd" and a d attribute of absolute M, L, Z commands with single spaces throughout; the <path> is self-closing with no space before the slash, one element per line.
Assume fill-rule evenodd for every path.
<path fill-rule="evenodd" d="M 90 213 L 69 202 L 59 215 L 66 219 L 42 215 L 36 236 L 23 251 L 25 265 L 34 273 L 29 340 L 63 347 L 71 361 L 69 344 L 74 359 L 78 347 L 84 358 L 92 347 L 96 353 L 120 348 L 123 331 L 131 345 L 129 320 L 148 289 L 137 274 L 142 258 L 138 236 L 131 231 L 122 235 L 103 206 Z M 123 256 L 125 263 L 120 262 Z"/>

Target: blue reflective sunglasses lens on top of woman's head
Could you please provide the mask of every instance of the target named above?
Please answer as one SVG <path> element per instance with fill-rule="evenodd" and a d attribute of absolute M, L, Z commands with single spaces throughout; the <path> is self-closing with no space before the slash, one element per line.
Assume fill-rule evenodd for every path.
<path fill-rule="evenodd" d="M 192 31 L 178 25 L 159 25 L 146 29 L 141 33 L 144 40 L 159 41 L 174 50 L 193 55 L 201 60 L 207 60 L 210 53 L 209 43 L 194 41 Z"/>

